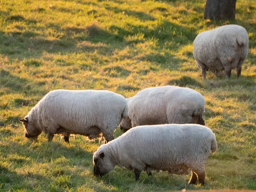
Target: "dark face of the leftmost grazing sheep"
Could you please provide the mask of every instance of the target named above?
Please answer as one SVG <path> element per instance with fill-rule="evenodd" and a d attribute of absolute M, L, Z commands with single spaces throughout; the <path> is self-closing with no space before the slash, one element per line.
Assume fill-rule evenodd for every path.
<path fill-rule="evenodd" d="M 25 117 L 24 119 L 19 119 L 19 121 L 22 122 L 23 127 L 25 128 L 26 138 L 35 138 L 42 133 L 42 130 L 36 128 L 36 126 L 33 125 L 33 123 L 30 122 L 27 117 Z"/>

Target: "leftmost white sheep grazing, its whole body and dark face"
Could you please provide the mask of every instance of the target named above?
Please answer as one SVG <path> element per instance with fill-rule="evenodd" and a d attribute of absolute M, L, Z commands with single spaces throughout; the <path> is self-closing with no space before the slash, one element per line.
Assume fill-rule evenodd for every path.
<path fill-rule="evenodd" d="M 70 134 L 89 139 L 114 139 L 122 118 L 128 116 L 125 98 L 108 90 L 53 90 L 47 93 L 24 119 L 25 137 L 37 138 L 44 131 L 51 141 L 54 134 L 64 134 L 69 143 Z"/>

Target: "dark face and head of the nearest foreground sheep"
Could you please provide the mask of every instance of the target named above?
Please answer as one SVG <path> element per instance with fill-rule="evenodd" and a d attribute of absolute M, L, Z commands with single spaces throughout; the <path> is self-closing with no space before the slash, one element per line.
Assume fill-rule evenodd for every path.
<path fill-rule="evenodd" d="M 102 176 L 113 170 L 115 165 L 112 163 L 108 153 L 96 151 L 93 154 L 93 175 Z"/>

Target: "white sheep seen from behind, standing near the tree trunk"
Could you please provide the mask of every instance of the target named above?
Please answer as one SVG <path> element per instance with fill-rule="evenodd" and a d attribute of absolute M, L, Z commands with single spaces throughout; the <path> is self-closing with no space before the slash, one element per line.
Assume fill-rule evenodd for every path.
<path fill-rule="evenodd" d="M 248 55 L 249 38 L 242 26 L 226 25 L 201 32 L 194 41 L 193 55 L 197 66 L 202 70 L 203 79 L 210 70 L 215 77 L 226 79 L 236 68 L 236 76 L 241 75 L 241 67 Z"/>

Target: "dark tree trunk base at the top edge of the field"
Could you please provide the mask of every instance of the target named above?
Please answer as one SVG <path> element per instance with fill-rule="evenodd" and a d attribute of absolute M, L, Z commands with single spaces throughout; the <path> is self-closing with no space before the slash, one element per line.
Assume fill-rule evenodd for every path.
<path fill-rule="evenodd" d="M 236 0 L 205 0 L 204 19 L 235 19 Z"/>

